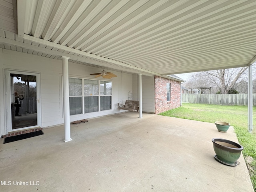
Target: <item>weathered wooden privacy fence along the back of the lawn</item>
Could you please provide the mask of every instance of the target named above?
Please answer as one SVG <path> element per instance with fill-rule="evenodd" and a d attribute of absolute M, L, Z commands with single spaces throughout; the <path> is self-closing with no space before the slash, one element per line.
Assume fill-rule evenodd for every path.
<path fill-rule="evenodd" d="M 253 105 L 256 106 L 256 94 Z M 248 105 L 248 94 L 182 94 L 182 103 L 214 105 Z"/>

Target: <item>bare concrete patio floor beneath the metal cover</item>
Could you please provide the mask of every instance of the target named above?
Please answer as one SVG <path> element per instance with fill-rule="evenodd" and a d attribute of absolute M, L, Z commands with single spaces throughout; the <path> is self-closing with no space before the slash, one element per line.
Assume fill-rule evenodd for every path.
<path fill-rule="evenodd" d="M 212 138 L 238 142 L 232 127 L 128 112 L 71 124 L 67 143 L 64 126 L 43 132 L 0 139 L 1 192 L 254 191 L 243 156 L 235 167 L 214 159 Z"/>

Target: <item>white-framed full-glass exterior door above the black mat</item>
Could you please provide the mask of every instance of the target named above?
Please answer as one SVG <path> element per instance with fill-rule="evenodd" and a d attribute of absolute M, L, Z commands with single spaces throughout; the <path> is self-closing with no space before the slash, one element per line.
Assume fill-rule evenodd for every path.
<path fill-rule="evenodd" d="M 6 70 L 7 132 L 41 127 L 40 75 Z"/>

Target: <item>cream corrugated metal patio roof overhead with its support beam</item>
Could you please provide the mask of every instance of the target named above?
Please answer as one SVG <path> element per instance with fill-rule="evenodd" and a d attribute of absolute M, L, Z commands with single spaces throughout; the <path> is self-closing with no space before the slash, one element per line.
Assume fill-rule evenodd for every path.
<path fill-rule="evenodd" d="M 164 76 L 256 60 L 255 0 L 0 0 L 0 48 Z"/>

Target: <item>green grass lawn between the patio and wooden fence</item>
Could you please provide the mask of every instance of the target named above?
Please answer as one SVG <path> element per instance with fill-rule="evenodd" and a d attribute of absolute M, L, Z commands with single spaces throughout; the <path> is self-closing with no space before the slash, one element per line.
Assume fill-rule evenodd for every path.
<path fill-rule="evenodd" d="M 250 177 L 256 192 L 256 130 L 252 134 L 248 133 L 247 106 L 184 103 L 181 107 L 163 112 L 160 115 L 211 123 L 218 120 L 229 122 L 231 126 L 234 126 L 238 141 L 244 147 L 242 153 L 250 170 Z M 256 107 L 253 108 L 253 124 L 254 129 L 256 129 Z M 253 158 L 252 162 L 248 161 L 250 157 Z"/>

